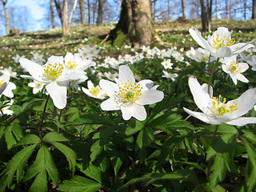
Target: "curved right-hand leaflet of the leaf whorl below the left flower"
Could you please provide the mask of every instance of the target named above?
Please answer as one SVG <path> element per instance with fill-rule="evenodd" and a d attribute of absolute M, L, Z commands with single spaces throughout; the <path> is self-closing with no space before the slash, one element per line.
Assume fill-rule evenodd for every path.
<path fill-rule="evenodd" d="M 51 142 L 58 150 L 62 152 L 66 156 L 66 160 L 70 164 L 70 170 L 75 170 L 75 166 L 77 165 L 76 162 L 76 154 L 74 153 L 74 150 L 71 150 L 70 147 L 63 145 L 60 142 Z"/>

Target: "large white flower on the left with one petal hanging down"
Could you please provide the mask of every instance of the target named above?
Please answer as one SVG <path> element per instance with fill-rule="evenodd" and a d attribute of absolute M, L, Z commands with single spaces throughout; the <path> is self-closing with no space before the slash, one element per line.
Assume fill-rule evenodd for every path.
<path fill-rule="evenodd" d="M 68 83 L 71 80 L 83 78 L 85 75 L 85 72 L 81 70 L 66 70 L 62 56 L 50 56 L 44 66 L 31 62 L 27 58 L 22 58 L 19 62 L 31 75 L 21 75 L 21 77 L 46 83 L 46 91 L 58 109 L 66 106 Z"/>

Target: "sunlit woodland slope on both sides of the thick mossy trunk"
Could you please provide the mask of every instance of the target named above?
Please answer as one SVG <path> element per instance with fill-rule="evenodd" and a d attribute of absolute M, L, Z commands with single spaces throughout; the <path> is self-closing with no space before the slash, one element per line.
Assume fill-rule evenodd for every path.
<path fill-rule="evenodd" d="M 28 57 L 32 52 L 50 55 L 63 55 L 66 52 L 77 52 L 78 48 L 86 45 L 99 46 L 102 54 L 118 55 L 125 49 L 112 47 L 109 42 L 103 39 L 112 30 L 115 23 L 104 25 L 78 25 L 71 26 L 70 33 L 62 37 L 62 28 L 51 30 L 42 30 L 35 32 L 26 32 L 18 35 L 9 35 L 0 37 L 0 58 L 3 66 L 8 66 L 8 61 L 16 54 Z M 190 37 L 188 30 L 190 28 L 201 29 L 200 20 L 170 20 L 165 22 L 155 22 L 155 29 L 164 42 L 166 47 L 177 46 L 184 50 L 189 50 L 196 43 Z M 213 19 L 212 31 L 219 26 L 226 26 L 232 32 L 235 40 L 249 42 L 256 38 L 256 20 L 229 20 Z M 206 37 L 210 33 L 205 33 Z M 247 41 L 248 40 L 248 41 Z M 127 51 L 127 50 L 126 50 Z"/>

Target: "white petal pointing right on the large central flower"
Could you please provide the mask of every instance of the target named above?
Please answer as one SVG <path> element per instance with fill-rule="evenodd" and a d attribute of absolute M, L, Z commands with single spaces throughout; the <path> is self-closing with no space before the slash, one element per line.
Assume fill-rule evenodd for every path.
<path fill-rule="evenodd" d="M 142 91 L 142 95 L 139 96 L 136 103 L 138 105 L 150 105 L 162 101 L 163 97 L 164 94 L 160 90 L 145 90 Z"/>

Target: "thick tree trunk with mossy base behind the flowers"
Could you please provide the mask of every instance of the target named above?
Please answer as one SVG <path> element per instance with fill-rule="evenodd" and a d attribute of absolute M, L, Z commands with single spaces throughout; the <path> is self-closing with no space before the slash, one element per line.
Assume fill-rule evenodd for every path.
<path fill-rule="evenodd" d="M 126 43 L 138 49 L 150 45 L 154 34 L 150 0 L 122 0 L 118 24 L 110 31 L 114 46 Z"/>

